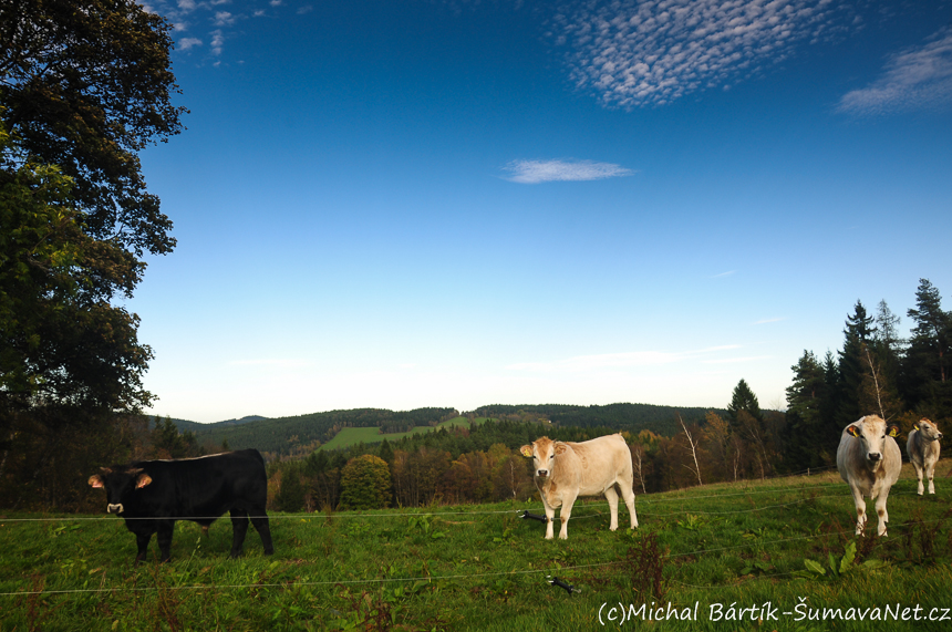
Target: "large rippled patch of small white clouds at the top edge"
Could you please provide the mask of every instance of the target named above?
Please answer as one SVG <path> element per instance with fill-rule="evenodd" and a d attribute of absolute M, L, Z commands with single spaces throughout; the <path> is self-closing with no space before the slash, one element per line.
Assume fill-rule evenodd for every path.
<path fill-rule="evenodd" d="M 728 89 L 789 58 L 794 44 L 835 37 L 829 0 L 615 0 L 552 20 L 571 77 L 611 107 L 663 105 Z M 848 23 L 848 20 L 842 20 Z"/>

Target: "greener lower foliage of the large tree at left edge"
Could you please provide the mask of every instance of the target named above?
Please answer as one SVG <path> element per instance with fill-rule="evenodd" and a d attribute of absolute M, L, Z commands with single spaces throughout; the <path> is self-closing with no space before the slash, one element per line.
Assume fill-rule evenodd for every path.
<path fill-rule="evenodd" d="M 135 411 L 149 402 L 152 352 L 132 296 L 142 266 L 83 230 L 72 180 L 24 160 L 0 127 L 0 407 L 43 404 Z"/>

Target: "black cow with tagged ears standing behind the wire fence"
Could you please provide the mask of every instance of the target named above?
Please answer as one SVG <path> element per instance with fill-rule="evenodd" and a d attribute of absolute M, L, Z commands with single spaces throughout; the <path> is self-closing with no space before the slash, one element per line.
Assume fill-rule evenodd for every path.
<path fill-rule="evenodd" d="M 158 532 L 162 561 L 168 561 L 176 520 L 192 520 L 204 530 L 225 511 L 231 511 L 231 557 L 241 553 L 248 516 L 255 525 L 265 553 L 275 552 L 265 503 L 268 476 L 257 449 L 241 449 L 178 460 L 139 460 L 103 467 L 90 477 L 90 485 L 106 490 L 107 511 L 125 518 L 135 533 L 142 561 L 152 535 Z"/>

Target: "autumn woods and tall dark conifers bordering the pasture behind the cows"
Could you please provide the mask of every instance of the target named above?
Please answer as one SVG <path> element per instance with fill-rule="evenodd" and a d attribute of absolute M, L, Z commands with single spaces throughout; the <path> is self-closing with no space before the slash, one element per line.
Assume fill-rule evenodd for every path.
<path fill-rule="evenodd" d="M 652 419 L 653 429 L 632 424 L 631 413 L 643 412 L 638 404 L 484 406 L 475 414 L 501 421 L 272 463 L 272 501 L 277 509 L 298 511 L 532 497 L 530 462 L 517 450 L 542 431 L 519 423 L 527 416 L 577 422 L 546 428 L 560 441 L 627 428 L 622 435 L 642 494 L 832 467 L 842 428 L 863 415 L 878 414 L 903 434 L 923 416 L 940 425 L 949 419 L 952 314 L 942 310 L 940 293 L 927 279 L 907 313 L 913 327 L 903 340 L 900 319 L 884 301 L 875 315 L 857 301 L 845 322 L 842 349 L 828 351 L 822 362 L 805 351 L 791 366 L 785 412 L 762 410 L 745 380 L 723 411 L 699 416 L 694 410 L 689 416 L 654 407 L 663 419 Z M 360 486 L 374 490 L 359 493 Z"/>

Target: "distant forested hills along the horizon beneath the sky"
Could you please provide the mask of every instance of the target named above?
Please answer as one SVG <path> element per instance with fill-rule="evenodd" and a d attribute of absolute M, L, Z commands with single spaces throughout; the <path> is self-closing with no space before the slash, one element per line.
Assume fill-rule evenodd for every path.
<path fill-rule="evenodd" d="M 685 424 L 703 424 L 708 411 L 726 415 L 721 408 L 655 406 L 652 404 L 609 404 L 607 406 L 572 406 L 565 404 L 525 404 L 482 406 L 467 416 L 489 417 L 503 421 L 548 419 L 558 426 L 608 427 L 638 434 L 650 429 L 655 434 L 673 436 L 681 426 L 677 415 Z M 195 433 L 199 445 L 220 446 L 228 442 L 231 449 L 255 447 L 270 457 L 307 455 L 333 439 L 343 428 L 365 428 L 361 437 L 371 435 L 381 439 L 390 434 L 406 433 L 414 428 L 436 427 L 443 422 L 459 417 L 454 408 L 417 408 L 414 411 L 387 411 L 383 408 L 356 408 L 330 411 L 293 417 L 266 418 L 247 416 L 214 424 L 197 424 L 173 419 L 179 432 Z M 371 428 L 377 428 L 373 432 Z M 370 432 L 371 434 L 368 434 Z M 385 432 L 387 434 L 380 434 Z M 340 443 L 340 442 L 338 442 Z M 350 443 L 350 442 L 345 442 Z M 332 444 L 337 445 L 337 444 Z M 332 449 L 332 448 L 331 448 Z"/>

